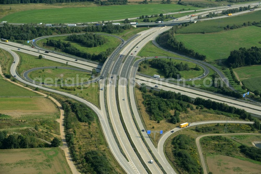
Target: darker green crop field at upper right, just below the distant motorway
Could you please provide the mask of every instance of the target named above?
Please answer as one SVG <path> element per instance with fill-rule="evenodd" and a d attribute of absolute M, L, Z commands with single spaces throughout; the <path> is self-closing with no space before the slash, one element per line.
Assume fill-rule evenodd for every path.
<path fill-rule="evenodd" d="M 229 18 L 213 19 L 208 21 L 200 21 L 195 24 L 177 30 L 176 33 L 213 33 L 223 31 L 223 27 L 227 25 L 243 25 L 244 22 L 248 21 L 260 21 L 261 11 L 253 11 L 247 14 L 237 15 Z M 259 28 L 260 30 L 260 28 Z"/>

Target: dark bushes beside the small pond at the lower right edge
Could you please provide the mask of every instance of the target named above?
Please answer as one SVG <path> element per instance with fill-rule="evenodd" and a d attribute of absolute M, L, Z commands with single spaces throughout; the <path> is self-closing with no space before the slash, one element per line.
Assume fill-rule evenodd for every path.
<path fill-rule="evenodd" d="M 241 145 L 239 148 L 240 152 L 245 154 L 248 158 L 261 162 L 261 149 L 245 145 Z"/>

